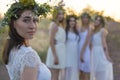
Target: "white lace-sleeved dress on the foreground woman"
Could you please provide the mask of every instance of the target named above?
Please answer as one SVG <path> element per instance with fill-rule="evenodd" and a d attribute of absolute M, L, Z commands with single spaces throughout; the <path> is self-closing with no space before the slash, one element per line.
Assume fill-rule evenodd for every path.
<path fill-rule="evenodd" d="M 21 46 L 20 49 L 12 49 L 9 55 L 9 63 L 6 65 L 10 80 L 20 80 L 25 66 L 38 68 L 37 80 L 51 80 L 49 69 L 41 62 L 38 54 L 31 47 Z"/>

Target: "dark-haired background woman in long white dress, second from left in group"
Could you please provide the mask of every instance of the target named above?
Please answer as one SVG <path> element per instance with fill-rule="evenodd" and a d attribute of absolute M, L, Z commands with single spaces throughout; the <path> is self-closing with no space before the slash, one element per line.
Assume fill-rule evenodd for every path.
<path fill-rule="evenodd" d="M 66 26 L 66 80 L 79 80 L 77 17 L 67 16 Z"/>

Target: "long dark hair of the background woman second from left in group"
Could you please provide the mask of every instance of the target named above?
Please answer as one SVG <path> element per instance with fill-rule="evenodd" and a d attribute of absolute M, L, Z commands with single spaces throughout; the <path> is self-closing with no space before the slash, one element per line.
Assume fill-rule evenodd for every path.
<path fill-rule="evenodd" d="M 77 30 L 77 17 L 75 15 L 68 15 L 67 18 L 66 18 L 66 40 L 68 39 L 68 32 L 69 32 L 69 29 L 70 29 L 70 18 L 74 18 L 75 19 L 75 26 L 73 28 L 73 31 L 76 35 L 79 36 L 79 33 L 78 33 L 78 30 Z"/>

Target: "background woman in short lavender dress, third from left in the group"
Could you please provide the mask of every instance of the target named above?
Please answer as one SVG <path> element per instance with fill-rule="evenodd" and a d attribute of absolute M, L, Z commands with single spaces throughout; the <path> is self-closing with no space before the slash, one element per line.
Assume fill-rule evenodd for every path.
<path fill-rule="evenodd" d="M 79 69 L 82 80 L 90 80 L 90 38 L 92 28 L 90 27 L 90 15 L 83 13 L 81 15 L 81 27 L 79 29 Z"/>

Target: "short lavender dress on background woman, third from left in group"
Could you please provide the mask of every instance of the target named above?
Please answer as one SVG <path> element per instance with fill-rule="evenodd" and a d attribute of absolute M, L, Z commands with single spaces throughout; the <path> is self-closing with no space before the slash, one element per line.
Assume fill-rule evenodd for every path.
<path fill-rule="evenodd" d="M 83 55 L 84 62 L 81 62 L 81 60 L 80 60 L 80 52 L 85 43 L 87 34 L 88 34 L 87 29 L 84 32 L 79 32 L 80 41 L 79 41 L 79 49 L 78 49 L 78 58 L 79 58 L 78 61 L 79 61 L 79 70 L 89 73 L 90 72 L 90 46 L 89 46 L 89 43 L 84 51 L 84 55 Z"/>

